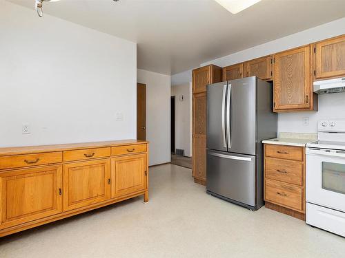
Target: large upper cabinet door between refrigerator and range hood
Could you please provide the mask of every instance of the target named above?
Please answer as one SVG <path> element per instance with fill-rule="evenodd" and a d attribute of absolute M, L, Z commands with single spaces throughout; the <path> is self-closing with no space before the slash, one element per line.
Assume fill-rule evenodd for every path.
<path fill-rule="evenodd" d="M 275 54 L 274 111 L 313 109 L 311 47 Z"/>

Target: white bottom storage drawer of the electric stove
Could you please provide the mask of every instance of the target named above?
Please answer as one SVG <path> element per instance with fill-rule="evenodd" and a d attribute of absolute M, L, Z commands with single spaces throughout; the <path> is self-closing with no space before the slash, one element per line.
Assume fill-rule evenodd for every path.
<path fill-rule="evenodd" d="M 306 224 L 345 237 L 345 213 L 306 203 Z"/>

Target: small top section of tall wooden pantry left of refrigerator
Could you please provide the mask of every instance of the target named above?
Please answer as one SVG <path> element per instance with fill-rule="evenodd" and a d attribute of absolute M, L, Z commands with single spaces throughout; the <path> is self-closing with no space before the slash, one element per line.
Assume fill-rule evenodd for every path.
<path fill-rule="evenodd" d="M 207 65 L 194 69 L 192 77 L 193 94 L 206 92 L 206 85 L 221 81 L 221 67 L 217 67 L 216 65 Z"/>

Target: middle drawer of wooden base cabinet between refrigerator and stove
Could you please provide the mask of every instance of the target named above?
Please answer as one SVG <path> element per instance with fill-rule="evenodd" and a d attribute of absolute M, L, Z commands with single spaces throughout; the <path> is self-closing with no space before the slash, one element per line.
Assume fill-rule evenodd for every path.
<path fill-rule="evenodd" d="M 304 163 L 289 160 L 265 159 L 265 176 L 290 184 L 303 184 Z"/>

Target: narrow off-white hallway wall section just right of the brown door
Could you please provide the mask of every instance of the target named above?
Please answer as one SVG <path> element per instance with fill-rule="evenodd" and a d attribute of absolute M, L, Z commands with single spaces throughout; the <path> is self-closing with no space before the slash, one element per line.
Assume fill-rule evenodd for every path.
<path fill-rule="evenodd" d="M 150 166 L 170 162 L 170 76 L 137 69 L 137 82 L 146 84 L 146 140 Z"/>

